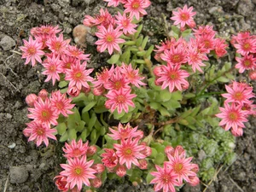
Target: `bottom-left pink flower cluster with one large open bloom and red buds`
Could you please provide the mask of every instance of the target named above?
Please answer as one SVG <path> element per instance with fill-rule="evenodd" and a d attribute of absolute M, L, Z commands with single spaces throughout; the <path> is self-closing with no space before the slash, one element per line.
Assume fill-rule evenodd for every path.
<path fill-rule="evenodd" d="M 88 160 L 88 157 L 96 154 L 96 146 L 90 146 L 88 142 L 83 143 L 73 140 L 70 144 L 65 143 L 62 148 L 67 158 L 67 164 L 61 164 L 64 171 L 56 176 L 55 184 L 62 192 L 79 192 L 83 184 L 99 188 L 102 185 L 102 172 L 105 166 L 94 164 L 94 160 Z"/>

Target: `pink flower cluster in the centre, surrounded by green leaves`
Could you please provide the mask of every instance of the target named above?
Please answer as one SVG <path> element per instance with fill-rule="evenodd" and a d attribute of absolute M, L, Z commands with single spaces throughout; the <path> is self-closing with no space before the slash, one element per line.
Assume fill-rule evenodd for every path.
<path fill-rule="evenodd" d="M 110 69 L 104 68 L 102 73 L 96 74 L 96 81 L 93 82 L 93 93 L 96 96 L 101 96 L 104 92 L 108 100 L 105 103 L 106 108 L 109 108 L 113 113 L 117 109 L 118 113 L 124 110 L 126 113 L 129 111 L 129 106 L 135 107 L 132 99 L 136 97 L 131 94 L 131 85 L 140 88 L 140 85 L 145 85 L 141 80 L 144 78 L 135 70 L 125 63 L 121 67 L 111 67 Z"/>

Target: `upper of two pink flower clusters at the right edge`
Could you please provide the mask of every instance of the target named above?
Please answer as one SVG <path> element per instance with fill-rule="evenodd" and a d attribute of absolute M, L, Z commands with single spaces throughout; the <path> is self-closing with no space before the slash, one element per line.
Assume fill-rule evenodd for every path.
<path fill-rule="evenodd" d="M 231 44 L 236 48 L 236 53 L 241 57 L 236 57 L 236 68 L 239 73 L 249 71 L 249 77 L 256 79 L 256 36 L 250 32 L 239 32 L 231 38 Z"/>

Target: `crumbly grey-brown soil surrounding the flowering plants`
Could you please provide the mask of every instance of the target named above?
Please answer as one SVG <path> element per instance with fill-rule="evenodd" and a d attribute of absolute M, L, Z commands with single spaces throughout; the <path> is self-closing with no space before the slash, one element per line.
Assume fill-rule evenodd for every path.
<path fill-rule="evenodd" d="M 160 31 L 154 30 L 156 20 L 162 13 L 169 18 L 172 9 L 185 3 L 194 6 L 197 24 L 212 23 L 222 37 L 244 30 L 256 34 L 255 0 L 154 0 L 145 17 L 145 26 L 152 27 L 144 32 L 151 37 L 159 35 Z M 57 191 L 53 177 L 60 172 L 59 164 L 63 162 L 61 143 L 37 148 L 34 143 L 27 143 L 22 134 L 28 122 L 26 95 L 54 87 L 44 83 L 44 75 L 40 74 L 42 67 L 25 66 L 24 60 L 15 53 L 20 51 L 21 39 L 28 38 L 33 26 L 42 24 L 59 25 L 65 36 L 72 38 L 73 27 L 82 23 L 84 15 L 94 15 L 105 6 L 106 3 L 99 0 L 0 0 L 0 191 Z M 152 42 L 158 40 L 151 39 Z M 95 55 L 91 67 L 99 67 L 98 61 L 104 62 L 102 56 Z M 238 159 L 232 166 L 220 170 L 207 191 L 256 191 L 255 131 L 256 120 L 250 119 L 243 137 L 236 139 Z M 185 186 L 182 191 L 203 191 L 204 188 L 203 184 L 195 188 Z M 108 181 L 100 191 L 154 190 L 145 184 L 131 186 L 124 179 Z"/>

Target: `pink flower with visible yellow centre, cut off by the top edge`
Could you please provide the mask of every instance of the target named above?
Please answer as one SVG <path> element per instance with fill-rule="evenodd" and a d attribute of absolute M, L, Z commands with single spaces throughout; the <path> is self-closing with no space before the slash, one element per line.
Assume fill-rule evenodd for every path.
<path fill-rule="evenodd" d="M 150 4 L 148 0 L 127 0 L 124 5 L 124 13 L 129 13 L 131 18 L 135 16 L 137 20 L 140 20 L 141 15 L 147 15 L 145 9 L 148 8 Z"/>

